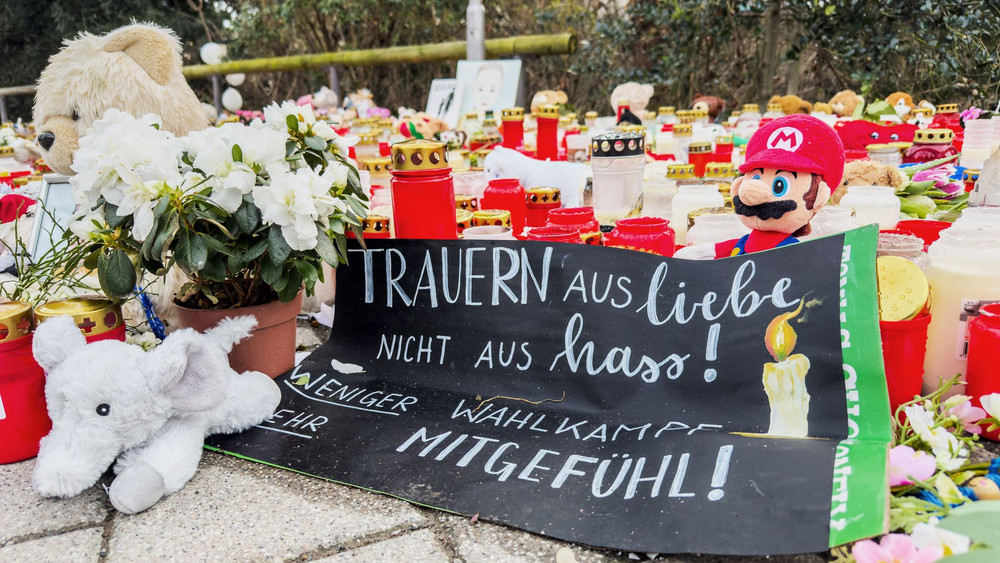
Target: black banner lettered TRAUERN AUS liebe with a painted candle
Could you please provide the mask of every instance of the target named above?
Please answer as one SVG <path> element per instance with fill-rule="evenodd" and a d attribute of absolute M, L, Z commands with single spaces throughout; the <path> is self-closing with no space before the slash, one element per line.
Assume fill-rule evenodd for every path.
<path fill-rule="evenodd" d="M 861 370 L 874 410 L 852 417 L 846 351 L 878 357 L 877 337 L 844 340 L 877 335 L 860 232 L 853 256 L 837 236 L 712 262 L 372 241 L 338 269 L 330 340 L 278 379 L 275 415 L 209 444 L 620 549 L 794 553 L 876 534 L 884 513 L 849 517 L 877 499 L 849 505 L 847 486 L 884 490 L 888 441 L 871 430 L 880 368 Z"/>

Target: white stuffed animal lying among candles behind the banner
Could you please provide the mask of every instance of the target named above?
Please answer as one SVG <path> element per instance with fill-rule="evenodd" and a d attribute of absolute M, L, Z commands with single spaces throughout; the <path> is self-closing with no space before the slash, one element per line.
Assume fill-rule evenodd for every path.
<path fill-rule="evenodd" d="M 486 181 L 517 178 L 525 188 L 559 188 L 563 206 L 579 207 L 587 186 L 590 167 L 575 162 L 536 160 L 514 149 L 497 147 L 486 155 L 483 164 Z"/>

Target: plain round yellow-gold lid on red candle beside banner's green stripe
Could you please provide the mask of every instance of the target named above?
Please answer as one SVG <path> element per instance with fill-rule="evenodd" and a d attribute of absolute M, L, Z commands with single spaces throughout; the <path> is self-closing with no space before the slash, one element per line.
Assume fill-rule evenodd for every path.
<path fill-rule="evenodd" d="M 881 320 L 903 321 L 923 311 L 930 289 L 919 267 L 899 256 L 879 256 L 875 259 L 875 270 Z"/>

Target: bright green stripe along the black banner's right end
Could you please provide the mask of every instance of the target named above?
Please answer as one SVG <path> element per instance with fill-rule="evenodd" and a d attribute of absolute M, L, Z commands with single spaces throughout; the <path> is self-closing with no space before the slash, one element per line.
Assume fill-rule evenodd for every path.
<path fill-rule="evenodd" d="M 845 233 L 840 328 L 848 435 L 834 459 L 830 547 L 888 530 L 889 393 L 878 324 L 878 229 Z"/>

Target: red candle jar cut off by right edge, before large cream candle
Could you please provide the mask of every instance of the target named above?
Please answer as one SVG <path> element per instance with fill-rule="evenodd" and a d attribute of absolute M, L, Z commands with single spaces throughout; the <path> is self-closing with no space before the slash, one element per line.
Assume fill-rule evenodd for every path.
<path fill-rule="evenodd" d="M 965 394 L 972 403 L 981 407 L 980 398 L 990 393 L 1000 393 L 1000 303 L 983 305 L 979 316 L 969 321 L 969 358 L 965 374 Z M 983 425 L 982 437 L 1000 441 L 1000 429 L 988 431 Z"/>

